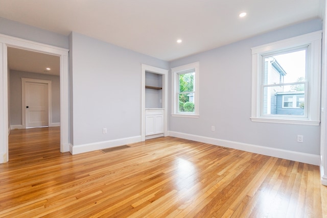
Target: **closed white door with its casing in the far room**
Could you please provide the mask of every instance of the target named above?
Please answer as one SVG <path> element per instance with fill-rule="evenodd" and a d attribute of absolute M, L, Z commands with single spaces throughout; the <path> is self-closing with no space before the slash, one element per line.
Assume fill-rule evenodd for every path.
<path fill-rule="evenodd" d="M 51 81 L 21 78 L 21 85 L 23 126 L 49 126 L 52 123 Z"/>

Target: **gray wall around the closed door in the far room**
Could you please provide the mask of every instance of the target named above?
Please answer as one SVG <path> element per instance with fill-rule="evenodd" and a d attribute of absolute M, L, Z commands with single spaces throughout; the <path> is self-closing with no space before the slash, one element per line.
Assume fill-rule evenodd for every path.
<path fill-rule="evenodd" d="M 35 74 L 34 72 L 22 72 L 10 70 L 10 92 L 8 104 L 10 105 L 10 124 L 21 125 L 21 78 L 51 80 L 52 87 L 52 123 L 60 123 L 60 78 L 59 76 Z M 9 102 L 10 100 L 10 102 Z"/>

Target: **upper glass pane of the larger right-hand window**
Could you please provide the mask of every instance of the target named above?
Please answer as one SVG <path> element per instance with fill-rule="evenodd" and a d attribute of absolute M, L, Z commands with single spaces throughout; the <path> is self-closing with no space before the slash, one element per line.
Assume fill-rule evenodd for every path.
<path fill-rule="evenodd" d="M 306 49 L 264 58 L 264 85 L 305 82 Z"/>

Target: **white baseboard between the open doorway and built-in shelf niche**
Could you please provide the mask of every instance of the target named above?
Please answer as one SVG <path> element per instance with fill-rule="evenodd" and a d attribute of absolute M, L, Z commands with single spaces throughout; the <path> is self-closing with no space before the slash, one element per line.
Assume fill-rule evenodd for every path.
<path fill-rule="evenodd" d="M 89 143 L 89 144 L 79 144 L 77 146 L 70 144 L 69 145 L 69 152 L 74 154 L 80 154 L 84 152 L 90 152 L 90 151 L 96 151 L 101 149 L 107 149 L 117 146 L 123 146 L 124 144 L 130 144 L 141 141 L 141 135 L 140 136 L 134 136 L 134 137 L 128 137 L 128 138 L 120 138 L 120 139 L 114 139 L 109 141 L 100 141 L 95 143 Z"/>

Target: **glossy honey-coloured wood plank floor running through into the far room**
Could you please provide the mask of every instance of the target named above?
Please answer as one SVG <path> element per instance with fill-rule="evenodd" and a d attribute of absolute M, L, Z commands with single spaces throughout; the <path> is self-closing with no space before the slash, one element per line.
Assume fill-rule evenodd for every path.
<path fill-rule="evenodd" d="M 71 155 L 59 131 L 11 132 L 0 217 L 326 217 L 318 166 L 174 137 Z"/>

